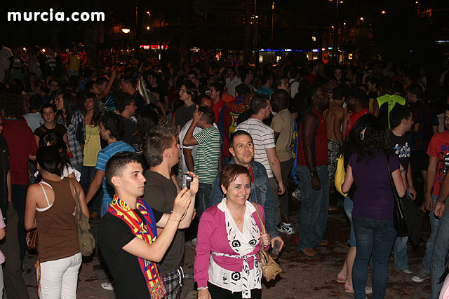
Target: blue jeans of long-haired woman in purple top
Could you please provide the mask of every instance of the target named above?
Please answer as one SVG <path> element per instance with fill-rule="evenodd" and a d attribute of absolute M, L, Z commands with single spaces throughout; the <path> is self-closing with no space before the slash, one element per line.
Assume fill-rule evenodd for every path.
<path fill-rule="evenodd" d="M 373 253 L 373 299 L 384 298 L 388 281 L 388 260 L 396 238 L 393 221 L 352 216 L 357 252 L 352 267 L 354 298 L 366 298 L 368 263 Z"/>

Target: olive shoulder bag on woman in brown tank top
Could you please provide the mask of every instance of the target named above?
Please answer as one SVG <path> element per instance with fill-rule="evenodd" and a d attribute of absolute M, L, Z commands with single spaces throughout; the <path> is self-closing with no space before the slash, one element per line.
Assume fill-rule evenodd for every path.
<path fill-rule="evenodd" d="M 81 202 L 79 200 L 78 190 L 72 179 L 70 179 L 70 184 L 73 186 L 75 190 L 75 202 L 76 202 L 76 214 L 75 214 L 75 222 L 76 227 L 78 228 L 78 242 L 79 242 L 79 251 L 83 256 L 91 256 L 92 251 L 95 249 L 95 239 L 89 229 L 91 228 L 91 224 L 89 224 L 89 219 L 83 213 L 83 207 L 81 207 Z"/>

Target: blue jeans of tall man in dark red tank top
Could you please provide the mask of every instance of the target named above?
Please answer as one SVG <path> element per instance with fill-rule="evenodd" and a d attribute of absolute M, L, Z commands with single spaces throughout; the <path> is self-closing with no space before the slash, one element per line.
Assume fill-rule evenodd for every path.
<path fill-rule="evenodd" d="M 309 167 L 297 166 L 296 173 L 300 178 L 302 192 L 300 209 L 300 228 L 298 229 L 297 251 L 313 248 L 323 239 L 328 224 L 329 208 L 329 175 L 328 165 L 316 167 L 321 181 L 321 189 L 311 188 Z"/>

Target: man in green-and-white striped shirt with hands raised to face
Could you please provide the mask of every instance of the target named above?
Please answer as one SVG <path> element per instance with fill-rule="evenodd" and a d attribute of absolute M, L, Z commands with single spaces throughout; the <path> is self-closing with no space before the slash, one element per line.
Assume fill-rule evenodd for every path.
<path fill-rule="evenodd" d="M 194 161 L 194 172 L 199 176 L 199 189 L 196 193 L 196 216 L 198 219 L 209 207 L 212 183 L 222 166 L 222 137 L 220 131 L 213 126 L 214 120 L 215 114 L 211 107 L 198 107 L 194 112 L 192 125 L 182 141 L 185 146 L 199 145 Z M 194 135 L 196 126 L 203 130 Z"/>

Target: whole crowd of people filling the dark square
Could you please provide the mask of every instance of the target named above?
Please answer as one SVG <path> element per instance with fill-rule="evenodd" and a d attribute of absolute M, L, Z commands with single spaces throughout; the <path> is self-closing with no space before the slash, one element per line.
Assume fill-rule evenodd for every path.
<path fill-rule="evenodd" d="M 344 291 L 384 298 L 391 251 L 397 270 L 414 273 L 408 237 L 394 228 L 393 188 L 415 200 L 421 182 L 415 202 L 431 235 L 410 279 L 431 279 L 431 298 L 446 292 L 449 60 L 435 70 L 288 59 L 174 68 L 139 52 L 94 69 L 82 43 L 23 50 L 0 48 L 8 298 L 29 298 L 22 261 L 33 230 L 40 298 L 76 298 L 76 198 L 101 218 L 97 243 L 111 274 L 102 287 L 116 298 L 180 298 L 192 275 L 182 268 L 188 240 L 198 298 L 262 298 L 261 246 L 281 250 L 282 235 L 295 233 L 309 258 L 328 246 L 340 155 L 351 225 L 336 277 Z M 301 200 L 298 228 L 289 189 Z"/>

